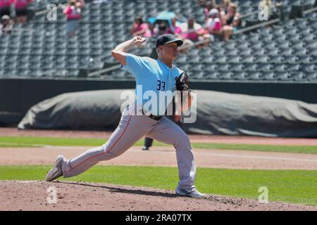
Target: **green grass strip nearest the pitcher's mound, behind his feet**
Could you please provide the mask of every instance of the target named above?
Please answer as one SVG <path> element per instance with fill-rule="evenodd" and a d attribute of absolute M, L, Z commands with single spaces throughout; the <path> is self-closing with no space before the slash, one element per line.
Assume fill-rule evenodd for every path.
<path fill-rule="evenodd" d="M 49 166 L 0 166 L 1 180 L 42 180 Z M 174 190 L 175 167 L 96 166 L 72 181 L 146 186 Z M 197 188 L 203 193 L 257 199 L 259 187 L 268 200 L 317 205 L 317 172 L 304 170 L 248 170 L 197 168 Z"/>

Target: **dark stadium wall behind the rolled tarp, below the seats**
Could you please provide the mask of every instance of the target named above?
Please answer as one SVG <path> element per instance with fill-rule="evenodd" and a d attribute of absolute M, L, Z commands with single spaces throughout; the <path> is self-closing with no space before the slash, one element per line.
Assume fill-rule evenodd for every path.
<path fill-rule="evenodd" d="M 192 81 L 192 89 L 287 98 L 317 103 L 317 83 Z M 74 91 L 133 89 L 135 81 L 104 79 L 0 79 L 0 126 L 18 124 L 27 110 L 46 98 Z"/>

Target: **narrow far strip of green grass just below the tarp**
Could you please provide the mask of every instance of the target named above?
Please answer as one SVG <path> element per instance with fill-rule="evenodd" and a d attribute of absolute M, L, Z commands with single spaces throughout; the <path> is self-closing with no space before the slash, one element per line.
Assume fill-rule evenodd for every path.
<path fill-rule="evenodd" d="M 40 146 L 101 146 L 106 139 L 68 139 L 34 136 L 1 136 L 0 147 L 40 147 Z M 142 146 L 143 140 L 135 146 Z M 154 141 L 154 146 L 168 146 Z M 235 143 L 192 143 L 193 148 L 227 149 L 227 150 L 259 150 L 266 152 L 310 153 L 317 154 L 317 146 L 273 146 L 249 145 Z"/>

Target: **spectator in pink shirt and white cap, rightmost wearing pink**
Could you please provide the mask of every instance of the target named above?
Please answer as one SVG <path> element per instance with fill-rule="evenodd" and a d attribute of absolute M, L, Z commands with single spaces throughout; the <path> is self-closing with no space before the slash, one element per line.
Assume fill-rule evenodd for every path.
<path fill-rule="evenodd" d="M 219 11 L 216 8 L 209 11 L 209 19 L 206 21 L 206 30 L 210 34 L 211 40 L 214 40 L 215 38 L 220 39 L 222 34 L 222 25 L 218 17 Z"/>

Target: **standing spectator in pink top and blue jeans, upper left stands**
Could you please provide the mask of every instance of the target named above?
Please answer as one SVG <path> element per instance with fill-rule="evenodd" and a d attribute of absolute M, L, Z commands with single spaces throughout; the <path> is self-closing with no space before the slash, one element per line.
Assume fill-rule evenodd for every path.
<path fill-rule="evenodd" d="M 68 6 L 63 10 L 67 18 L 67 35 L 73 37 L 79 27 L 79 21 L 82 18 L 82 8 L 85 7 L 85 1 L 69 0 Z"/>

